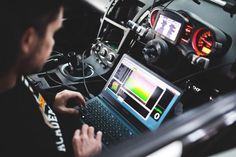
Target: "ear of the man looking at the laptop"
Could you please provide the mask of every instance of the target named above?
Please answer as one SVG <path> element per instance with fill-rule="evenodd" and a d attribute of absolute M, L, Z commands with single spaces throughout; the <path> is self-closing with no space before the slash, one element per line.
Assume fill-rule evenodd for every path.
<path fill-rule="evenodd" d="M 37 33 L 33 27 L 28 28 L 21 38 L 21 52 L 28 55 L 35 48 L 37 43 Z"/>

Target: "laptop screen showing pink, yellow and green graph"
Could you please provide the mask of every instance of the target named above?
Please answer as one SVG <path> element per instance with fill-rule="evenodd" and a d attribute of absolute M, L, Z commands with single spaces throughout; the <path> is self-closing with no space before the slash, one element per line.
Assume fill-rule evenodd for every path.
<path fill-rule="evenodd" d="M 182 93 L 128 55 L 123 55 L 104 89 L 150 130 L 160 126 Z"/>

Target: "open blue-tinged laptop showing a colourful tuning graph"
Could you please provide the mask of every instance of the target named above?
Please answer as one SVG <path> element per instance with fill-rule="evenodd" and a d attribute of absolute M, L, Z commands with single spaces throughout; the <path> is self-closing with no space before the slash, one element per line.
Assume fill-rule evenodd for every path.
<path fill-rule="evenodd" d="M 156 130 L 182 91 L 124 54 L 102 92 L 81 109 L 83 123 L 103 132 L 111 146 L 145 131 Z"/>

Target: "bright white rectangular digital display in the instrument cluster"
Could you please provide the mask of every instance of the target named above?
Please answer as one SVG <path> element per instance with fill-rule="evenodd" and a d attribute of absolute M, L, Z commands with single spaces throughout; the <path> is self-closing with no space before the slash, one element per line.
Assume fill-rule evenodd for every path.
<path fill-rule="evenodd" d="M 174 42 L 176 41 L 180 28 L 180 22 L 160 14 L 155 27 L 155 31 L 157 31 L 159 34 L 163 35 L 170 41 Z"/>

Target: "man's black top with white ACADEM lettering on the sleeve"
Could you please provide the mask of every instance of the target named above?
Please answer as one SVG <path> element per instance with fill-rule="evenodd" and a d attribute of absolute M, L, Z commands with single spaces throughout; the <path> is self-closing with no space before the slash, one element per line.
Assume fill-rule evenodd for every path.
<path fill-rule="evenodd" d="M 64 156 L 65 144 L 55 114 L 48 105 L 39 107 L 37 97 L 40 103 L 44 99 L 29 87 L 19 79 L 13 89 L 0 93 L 0 156 Z"/>

